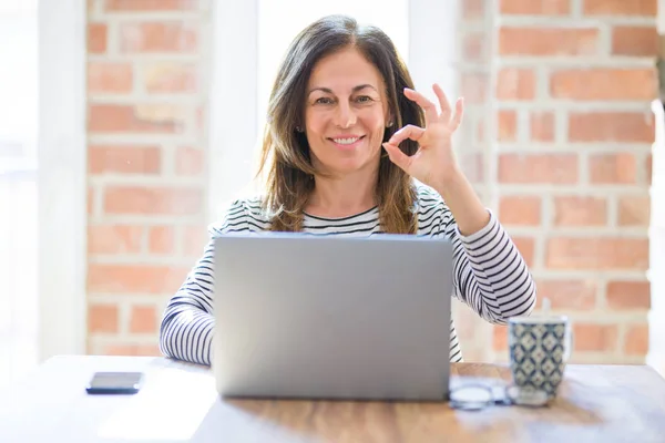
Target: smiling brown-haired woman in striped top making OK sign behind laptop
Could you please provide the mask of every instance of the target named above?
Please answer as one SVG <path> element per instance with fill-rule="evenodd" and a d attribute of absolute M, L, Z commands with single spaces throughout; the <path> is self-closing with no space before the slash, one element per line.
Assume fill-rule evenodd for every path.
<path fill-rule="evenodd" d="M 419 92 L 390 39 L 346 17 L 291 43 L 275 80 L 259 172 L 265 194 L 238 199 L 211 226 L 229 231 L 377 233 L 449 237 L 453 296 L 483 319 L 528 315 L 535 285 L 516 247 L 460 172 L 451 135 L 462 101 L 440 111 Z M 213 243 L 173 296 L 161 326 L 168 356 L 211 364 Z M 461 361 L 454 324 L 450 360 Z"/>

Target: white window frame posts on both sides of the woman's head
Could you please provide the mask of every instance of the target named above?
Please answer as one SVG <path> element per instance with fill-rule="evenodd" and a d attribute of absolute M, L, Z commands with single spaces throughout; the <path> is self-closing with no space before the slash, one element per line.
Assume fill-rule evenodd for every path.
<path fill-rule="evenodd" d="M 453 99 L 458 1 L 410 0 L 407 64 L 416 87 L 434 99 L 439 82 Z M 340 11 L 344 12 L 344 11 Z M 213 3 L 213 53 L 208 113 L 208 222 L 245 189 L 255 171 L 257 127 L 258 1 Z M 242 43 L 242 44 L 241 44 Z"/>

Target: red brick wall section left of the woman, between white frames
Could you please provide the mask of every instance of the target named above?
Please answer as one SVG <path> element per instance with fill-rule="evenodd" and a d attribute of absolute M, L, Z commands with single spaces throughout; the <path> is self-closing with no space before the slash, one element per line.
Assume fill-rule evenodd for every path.
<path fill-rule="evenodd" d="M 164 303 L 203 250 L 204 3 L 88 3 L 91 353 L 156 354 Z"/>

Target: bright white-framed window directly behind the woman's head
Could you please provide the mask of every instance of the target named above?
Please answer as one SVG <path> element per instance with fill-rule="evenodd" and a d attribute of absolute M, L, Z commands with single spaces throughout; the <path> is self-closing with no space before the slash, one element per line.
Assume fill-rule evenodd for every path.
<path fill-rule="evenodd" d="M 248 190 L 277 66 L 290 40 L 331 13 L 383 29 L 407 61 L 416 87 L 454 94 L 457 2 L 426 0 L 255 0 L 215 3 L 209 113 L 209 220 Z M 242 43 L 242 44 L 239 44 Z"/>

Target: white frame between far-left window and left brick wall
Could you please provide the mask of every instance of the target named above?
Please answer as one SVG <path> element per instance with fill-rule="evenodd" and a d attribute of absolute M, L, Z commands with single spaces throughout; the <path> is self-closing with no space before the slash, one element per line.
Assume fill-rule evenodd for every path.
<path fill-rule="evenodd" d="M 85 0 L 39 1 L 39 360 L 86 348 Z"/>

